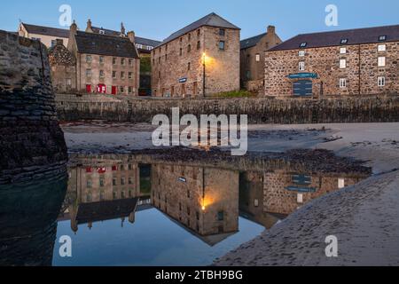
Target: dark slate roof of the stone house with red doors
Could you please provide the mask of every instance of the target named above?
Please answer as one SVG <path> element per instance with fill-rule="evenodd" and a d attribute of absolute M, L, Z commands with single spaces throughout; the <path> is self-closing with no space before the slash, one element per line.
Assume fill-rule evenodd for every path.
<path fill-rule="evenodd" d="M 128 37 L 105 36 L 78 31 L 74 36 L 80 53 L 138 59 L 136 47 Z"/>

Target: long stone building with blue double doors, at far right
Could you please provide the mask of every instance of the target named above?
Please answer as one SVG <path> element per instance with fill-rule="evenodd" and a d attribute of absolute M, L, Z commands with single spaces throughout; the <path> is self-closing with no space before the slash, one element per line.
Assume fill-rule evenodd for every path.
<path fill-rule="evenodd" d="M 265 96 L 399 91 L 399 26 L 295 36 L 266 51 Z"/>

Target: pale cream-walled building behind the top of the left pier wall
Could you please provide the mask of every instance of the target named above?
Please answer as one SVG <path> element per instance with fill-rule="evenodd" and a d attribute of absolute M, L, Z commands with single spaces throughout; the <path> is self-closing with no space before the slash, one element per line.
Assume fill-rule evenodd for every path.
<path fill-rule="evenodd" d="M 57 41 L 62 42 L 65 46 L 68 46 L 69 41 L 68 29 L 36 26 L 22 22 L 18 28 L 18 34 L 22 37 L 39 40 L 45 46 L 47 46 L 47 48 L 55 46 Z"/>

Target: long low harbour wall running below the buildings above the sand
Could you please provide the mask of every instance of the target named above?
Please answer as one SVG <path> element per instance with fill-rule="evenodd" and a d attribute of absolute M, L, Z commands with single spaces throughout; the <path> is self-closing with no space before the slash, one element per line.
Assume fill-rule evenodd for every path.
<path fill-rule="evenodd" d="M 90 99 L 89 99 L 90 98 Z M 399 122 L 399 96 L 329 99 L 132 99 L 56 98 L 59 119 L 152 122 L 156 114 L 248 114 L 251 123 Z"/>

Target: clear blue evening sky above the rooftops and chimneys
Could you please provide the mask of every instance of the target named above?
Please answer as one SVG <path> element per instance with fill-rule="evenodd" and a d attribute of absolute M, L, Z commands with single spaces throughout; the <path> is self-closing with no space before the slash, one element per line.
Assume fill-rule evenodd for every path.
<path fill-rule="evenodd" d="M 256 36 L 267 26 L 276 26 L 278 36 L 319 31 L 367 28 L 399 24 L 397 0 L 13 0 L 2 1 L 0 29 L 16 31 L 19 21 L 65 28 L 59 25 L 59 7 L 68 4 L 78 27 L 93 26 L 120 30 L 121 22 L 136 36 L 163 40 L 180 28 L 210 12 L 241 28 L 241 38 Z M 325 7 L 338 9 L 338 26 L 325 24 Z"/>

